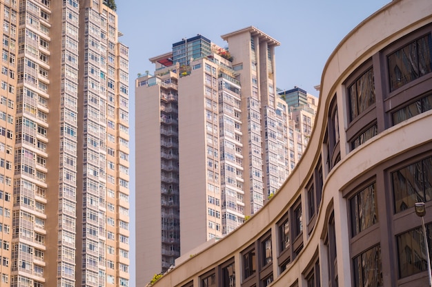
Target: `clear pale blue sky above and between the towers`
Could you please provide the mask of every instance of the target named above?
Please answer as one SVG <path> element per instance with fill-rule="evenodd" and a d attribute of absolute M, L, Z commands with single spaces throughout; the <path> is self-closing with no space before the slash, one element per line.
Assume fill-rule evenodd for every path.
<path fill-rule="evenodd" d="M 254 26 L 281 43 L 276 48 L 277 87 L 313 89 L 328 56 L 366 17 L 391 0 L 117 0 L 119 39 L 129 47 L 130 73 L 130 287 L 135 287 L 135 78 L 154 71 L 150 57 L 170 52 L 172 44 L 202 34 L 219 46 L 220 35 Z M 150 280 L 150 279 L 149 279 Z"/>

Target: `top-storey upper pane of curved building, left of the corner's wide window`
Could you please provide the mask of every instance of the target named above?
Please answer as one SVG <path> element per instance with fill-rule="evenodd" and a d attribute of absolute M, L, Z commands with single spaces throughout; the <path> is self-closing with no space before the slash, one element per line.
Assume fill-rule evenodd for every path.
<path fill-rule="evenodd" d="M 362 114 L 368 107 L 375 104 L 375 83 L 373 68 L 367 70 L 360 78 L 348 87 L 350 120 Z"/>

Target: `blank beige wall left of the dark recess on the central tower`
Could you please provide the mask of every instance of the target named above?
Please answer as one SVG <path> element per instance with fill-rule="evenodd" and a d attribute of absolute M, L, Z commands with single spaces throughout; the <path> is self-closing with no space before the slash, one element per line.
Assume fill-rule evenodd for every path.
<path fill-rule="evenodd" d="M 138 78 L 139 81 L 142 78 Z M 144 89 L 145 94 L 144 94 Z M 135 89 L 135 225 L 137 282 L 148 282 L 161 268 L 161 138 L 160 89 Z M 148 153 L 148 150 L 154 151 Z M 157 196 L 159 194 L 159 196 Z M 159 266 L 157 268 L 157 266 Z"/>

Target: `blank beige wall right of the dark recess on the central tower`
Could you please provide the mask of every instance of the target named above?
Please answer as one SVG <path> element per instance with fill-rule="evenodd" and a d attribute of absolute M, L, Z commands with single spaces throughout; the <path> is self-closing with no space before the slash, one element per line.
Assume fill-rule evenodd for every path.
<path fill-rule="evenodd" d="M 207 241 L 207 151 L 202 71 L 196 70 L 179 78 L 181 255 Z"/>

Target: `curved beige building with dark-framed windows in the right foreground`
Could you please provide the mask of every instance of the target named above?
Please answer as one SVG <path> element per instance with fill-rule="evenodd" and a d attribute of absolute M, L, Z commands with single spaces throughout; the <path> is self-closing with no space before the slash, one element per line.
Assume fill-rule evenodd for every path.
<path fill-rule="evenodd" d="M 431 32 L 432 2 L 400 0 L 348 34 L 288 180 L 155 286 L 426 286 L 414 204 L 432 232 Z"/>

